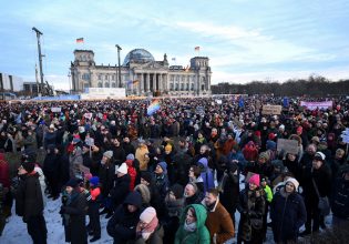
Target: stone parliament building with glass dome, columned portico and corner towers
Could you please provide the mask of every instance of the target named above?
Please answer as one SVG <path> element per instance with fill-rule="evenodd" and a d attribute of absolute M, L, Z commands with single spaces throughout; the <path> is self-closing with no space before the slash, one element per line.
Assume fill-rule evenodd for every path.
<path fill-rule="evenodd" d="M 134 49 L 121 67 L 96 65 L 94 52 L 75 50 L 71 62 L 72 91 L 85 88 L 125 88 L 129 95 L 206 95 L 211 94 L 212 71 L 206 57 L 194 57 L 191 65 L 168 65 L 167 55 L 155 61 L 144 49 Z"/>

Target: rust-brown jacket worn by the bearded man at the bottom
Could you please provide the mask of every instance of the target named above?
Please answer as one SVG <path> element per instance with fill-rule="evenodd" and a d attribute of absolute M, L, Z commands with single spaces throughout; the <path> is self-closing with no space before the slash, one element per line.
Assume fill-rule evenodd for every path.
<path fill-rule="evenodd" d="M 211 240 L 216 234 L 216 243 L 223 244 L 234 237 L 234 225 L 230 214 L 217 200 L 213 210 L 208 210 L 206 226 L 209 231 Z"/>

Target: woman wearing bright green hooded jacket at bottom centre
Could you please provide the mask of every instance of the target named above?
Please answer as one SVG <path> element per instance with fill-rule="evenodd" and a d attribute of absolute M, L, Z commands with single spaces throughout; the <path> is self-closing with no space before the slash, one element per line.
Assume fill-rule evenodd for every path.
<path fill-rule="evenodd" d="M 174 243 L 209 244 L 211 236 L 205 225 L 206 220 L 207 211 L 203 205 L 192 204 L 186 206 L 181 216 Z"/>

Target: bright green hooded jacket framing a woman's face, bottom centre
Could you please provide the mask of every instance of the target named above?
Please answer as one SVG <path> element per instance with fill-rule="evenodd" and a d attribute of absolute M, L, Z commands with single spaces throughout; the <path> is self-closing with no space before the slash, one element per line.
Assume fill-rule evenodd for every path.
<path fill-rule="evenodd" d="M 196 231 L 188 232 L 184 230 L 186 213 L 189 207 L 194 207 L 196 214 Z M 175 244 L 209 244 L 211 236 L 205 225 L 207 211 L 201 204 L 192 204 L 185 207 L 179 220 L 179 227 L 176 232 Z"/>

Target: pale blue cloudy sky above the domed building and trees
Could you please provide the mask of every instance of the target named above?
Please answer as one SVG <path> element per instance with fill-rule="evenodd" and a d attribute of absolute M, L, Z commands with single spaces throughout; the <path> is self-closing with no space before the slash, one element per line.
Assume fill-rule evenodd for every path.
<path fill-rule="evenodd" d="M 43 32 L 43 73 L 61 89 L 69 89 L 74 49 L 115 65 L 115 44 L 122 62 L 136 48 L 155 60 L 167 53 L 178 65 L 208 57 L 213 83 L 349 78 L 348 0 L 2 1 L 0 13 L 0 72 L 34 81 L 35 27 Z"/>

